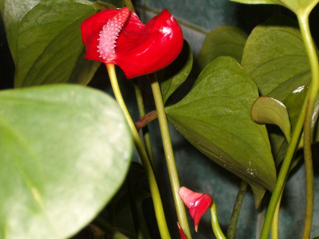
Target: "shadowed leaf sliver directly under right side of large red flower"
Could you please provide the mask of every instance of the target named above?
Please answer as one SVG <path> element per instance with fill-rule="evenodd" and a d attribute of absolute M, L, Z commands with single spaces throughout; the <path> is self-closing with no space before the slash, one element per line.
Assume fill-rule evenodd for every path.
<path fill-rule="evenodd" d="M 156 74 L 160 81 L 160 90 L 165 103 L 170 95 L 186 80 L 193 66 L 193 53 L 190 45 L 184 40 L 178 57 L 167 67 Z"/>

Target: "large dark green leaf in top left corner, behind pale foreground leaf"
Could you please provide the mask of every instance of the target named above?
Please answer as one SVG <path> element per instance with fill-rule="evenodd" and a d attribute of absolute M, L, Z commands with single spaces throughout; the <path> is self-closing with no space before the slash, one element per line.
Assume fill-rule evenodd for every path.
<path fill-rule="evenodd" d="M 88 0 L 3 0 L 1 15 L 15 63 L 15 87 L 87 84 L 98 63 L 82 60 L 80 24 L 97 10 Z M 92 73 L 93 72 L 93 73 Z M 74 76 L 81 76 L 75 80 Z"/>

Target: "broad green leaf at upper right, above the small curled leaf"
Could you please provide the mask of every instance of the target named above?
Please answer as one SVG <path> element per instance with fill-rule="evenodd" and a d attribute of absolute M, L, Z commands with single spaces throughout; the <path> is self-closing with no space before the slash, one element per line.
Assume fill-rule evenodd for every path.
<path fill-rule="evenodd" d="M 281 102 L 311 79 L 298 24 L 283 15 L 255 27 L 247 39 L 241 65 L 254 79 L 261 95 Z"/>

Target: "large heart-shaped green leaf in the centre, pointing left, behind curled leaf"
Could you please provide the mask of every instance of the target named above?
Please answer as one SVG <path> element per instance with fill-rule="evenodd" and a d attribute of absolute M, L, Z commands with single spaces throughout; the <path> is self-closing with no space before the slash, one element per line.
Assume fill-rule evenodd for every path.
<path fill-rule="evenodd" d="M 167 117 L 201 152 L 246 180 L 259 204 L 264 188 L 274 188 L 276 169 L 266 127 L 250 117 L 257 97 L 254 81 L 236 60 L 220 57 L 184 99 L 167 108 Z"/>

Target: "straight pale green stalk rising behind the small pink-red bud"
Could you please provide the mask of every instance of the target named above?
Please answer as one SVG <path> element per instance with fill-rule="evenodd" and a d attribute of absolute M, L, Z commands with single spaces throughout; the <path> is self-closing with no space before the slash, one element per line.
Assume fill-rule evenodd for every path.
<path fill-rule="evenodd" d="M 160 84 L 159 84 L 159 81 L 157 80 L 155 73 L 149 74 L 149 77 L 151 79 L 151 87 L 152 87 L 152 91 L 154 95 L 156 109 L 158 112 L 158 119 L 160 123 L 160 133 L 162 137 L 163 148 L 164 148 L 166 164 L 168 169 L 168 175 L 169 175 L 171 189 L 173 192 L 173 198 L 174 198 L 175 208 L 177 212 L 178 222 L 182 230 L 184 231 L 186 237 L 188 239 L 191 239 L 188 221 L 186 217 L 185 206 L 183 204 L 183 201 L 178 196 L 178 190 L 180 188 L 180 185 L 179 185 L 178 174 L 177 174 L 177 169 L 176 169 L 176 164 L 174 159 L 174 153 L 173 153 L 170 136 L 169 136 L 166 113 L 165 113 L 164 104 L 163 104 L 163 100 L 162 100 L 162 96 L 160 92 Z"/>

